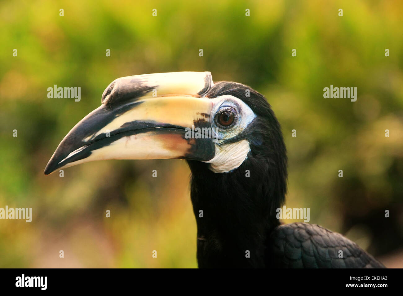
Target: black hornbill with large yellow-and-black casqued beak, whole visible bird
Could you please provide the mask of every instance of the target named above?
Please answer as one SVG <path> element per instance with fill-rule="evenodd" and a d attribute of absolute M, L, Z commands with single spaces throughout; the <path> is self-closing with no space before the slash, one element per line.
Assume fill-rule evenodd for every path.
<path fill-rule="evenodd" d="M 114 80 L 44 173 L 101 159 L 187 160 L 199 267 L 384 267 L 341 234 L 276 218 L 286 148 L 266 98 L 247 85 L 213 83 L 210 72 Z"/>

